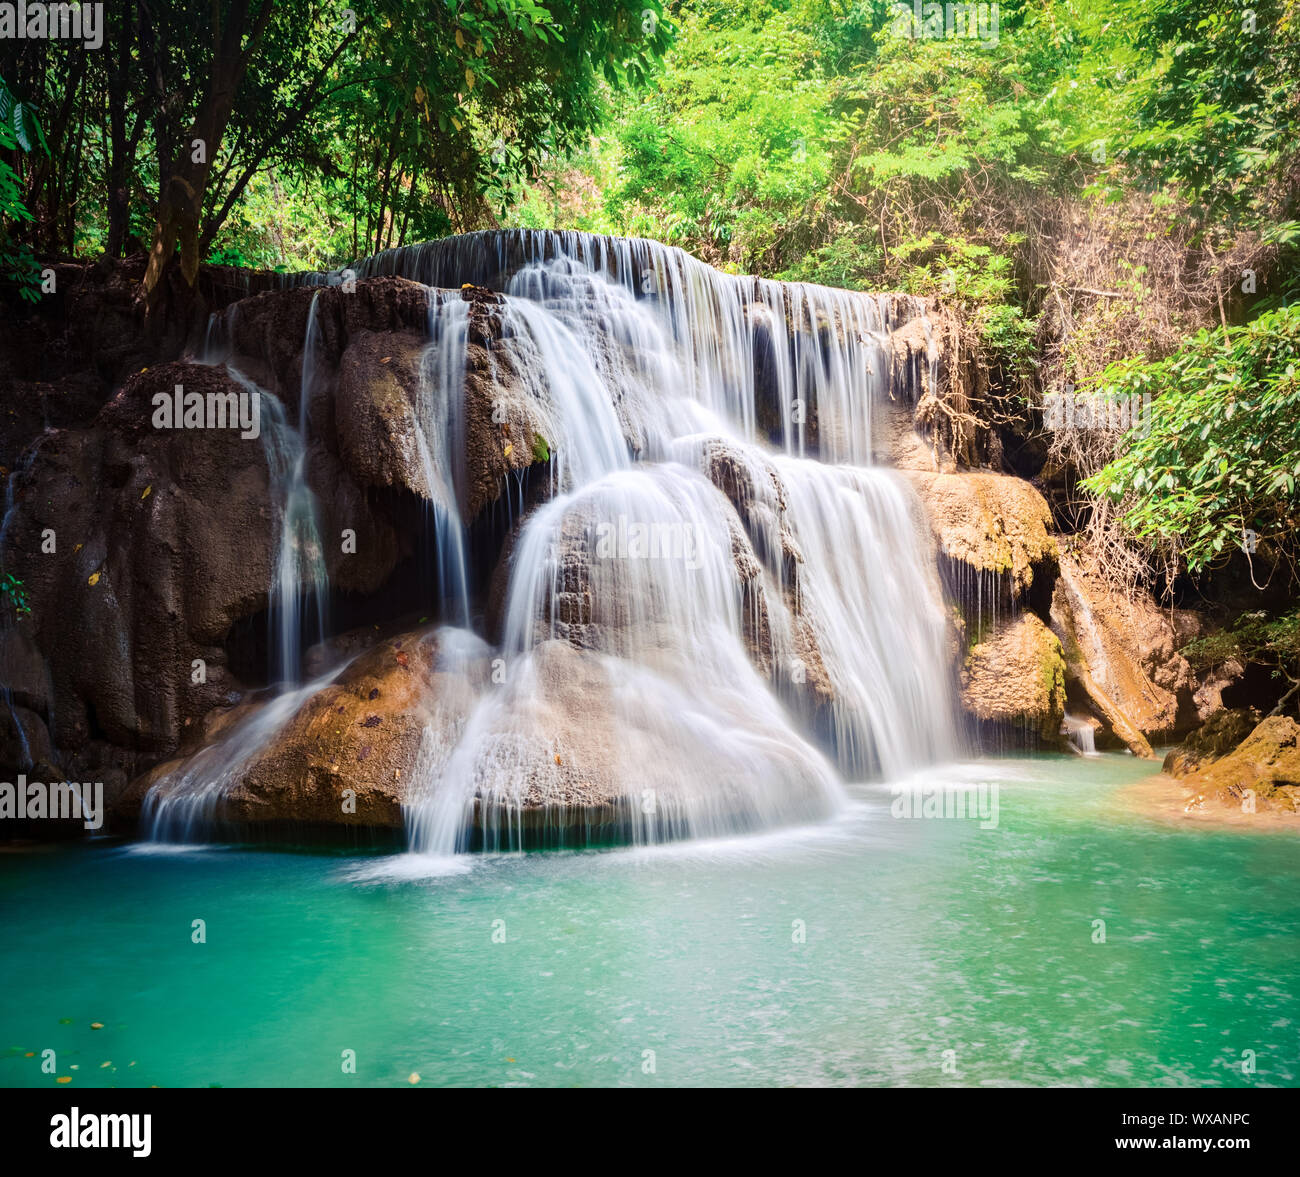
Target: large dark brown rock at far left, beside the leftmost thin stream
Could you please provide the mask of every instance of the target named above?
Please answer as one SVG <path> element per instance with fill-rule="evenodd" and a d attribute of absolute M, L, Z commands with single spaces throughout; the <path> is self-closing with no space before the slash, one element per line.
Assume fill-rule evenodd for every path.
<path fill-rule="evenodd" d="M 139 373 L 94 428 L 46 434 L 18 492 L 5 564 L 32 611 L 18 623 L 30 642 L 12 683 L 42 697 L 70 752 L 92 739 L 169 752 L 186 721 L 235 688 L 222 639 L 265 606 L 263 445 L 235 429 L 155 429 L 151 397 L 177 384 L 239 391 L 198 364 Z"/>

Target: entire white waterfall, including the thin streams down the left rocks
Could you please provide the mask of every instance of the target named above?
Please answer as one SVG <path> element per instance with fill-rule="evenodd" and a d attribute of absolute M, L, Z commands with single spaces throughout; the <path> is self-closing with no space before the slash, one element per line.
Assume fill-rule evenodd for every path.
<path fill-rule="evenodd" d="M 890 334 L 923 317 L 919 300 L 736 277 L 576 233 L 468 234 L 355 268 L 430 287 L 413 408 L 454 624 L 438 631 L 447 672 L 408 786 L 413 851 L 820 821 L 846 780 L 959 752 L 930 531 L 874 458 L 876 410 L 918 395 L 922 373 L 897 371 Z M 285 503 L 272 613 L 286 681 L 300 587 L 324 589 L 304 472 L 317 332 L 313 299 L 296 429 L 281 411 L 266 430 Z M 497 649 L 469 628 L 484 587 L 467 558 L 467 389 L 484 363 L 550 476 L 514 535 Z M 468 672 L 488 662 L 490 681 Z M 211 822 L 247 749 L 312 689 L 286 691 L 155 788 L 156 835 Z"/>

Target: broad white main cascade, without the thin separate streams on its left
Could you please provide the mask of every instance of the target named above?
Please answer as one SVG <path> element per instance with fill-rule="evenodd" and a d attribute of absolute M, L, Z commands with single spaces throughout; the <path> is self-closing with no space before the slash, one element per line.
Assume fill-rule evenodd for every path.
<path fill-rule="evenodd" d="M 459 238 L 361 271 L 504 285 L 500 333 L 530 345 L 555 455 L 555 497 L 524 522 L 511 558 L 504 681 L 462 714 L 452 745 L 428 734 L 439 752 L 417 771 L 415 851 L 659 841 L 823 817 L 842 787 L 798 719 L 852 778 L 954 754 L 919 507 L 896 475 L 870 468 L 871 406 L 890 393 L 888 299 L 556 234 Z M 775 428 L 760 425 L 763 364 Z M 814 412 L 819 456 L 841 464 L 801 456 Z M 762 589 L 742 584 L 745 524 L 707 476 L 718 446 L 750 471 L 745 542 L 772 566 Z M 783 528 L 801 551 L 797 616 L 772 558 Z M 771 628 L 766 679 L 746 649 L 755 592 Z M 833 693 L 820 722 L 800 715 L 801 626 Z M 616 788 L 576 786 L 584 776 Z"/>

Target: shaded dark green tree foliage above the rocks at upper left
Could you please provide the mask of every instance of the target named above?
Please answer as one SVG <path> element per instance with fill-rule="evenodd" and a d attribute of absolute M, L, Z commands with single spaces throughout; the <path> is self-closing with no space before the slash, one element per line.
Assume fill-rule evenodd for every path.
<path fill-rule="evenodd" d="M 484 228 L 672 40 L 660 0 L 218 0 L 212 17 L 107 5 L 103 52 L 25 53 L 17 111 L 26 127 L 42 109 L 55 157 L 21 178 L 29 241 L 121 254 L 148 246 L 161 208 L 198 256 L 317 268 Z M 225 29 L 247 47 L 242 73 L 222 73 Z M 233 105 L 203 130 L 214 91 Z M 211 169 L 191 166 L 196 137 Z M 202 196 L 196 243 L 194 218 L 160 203 L 176 179 Z"/>

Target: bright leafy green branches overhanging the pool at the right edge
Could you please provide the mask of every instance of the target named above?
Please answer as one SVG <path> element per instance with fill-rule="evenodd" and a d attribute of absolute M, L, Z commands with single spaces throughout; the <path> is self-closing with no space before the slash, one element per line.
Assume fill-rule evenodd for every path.
<path fill-rule="evenodd" d="M 1269 311 L 1225 343 L 1201 332 L 1158 363 L 1112 364 L 1106 395 L 1153 401 L 1148 428 L 1086 483 L 1126 506 L 1138 537 L 1204 568 L 1247 541 L 1294 553 L 1300 480 L 1300 307 Z M 1249 546 L 1247 544 L 1247 546 Z"/>

